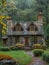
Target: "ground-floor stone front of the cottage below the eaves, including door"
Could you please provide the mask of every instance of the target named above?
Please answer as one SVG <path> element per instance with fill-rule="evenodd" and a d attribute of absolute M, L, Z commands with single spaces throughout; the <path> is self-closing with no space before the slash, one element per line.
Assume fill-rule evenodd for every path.
<path fill-rule="evenodd" d="M 32 46 L 33 44 L 43 44 L 42 36 L 10 36 L 8 37 L 8 45 L 15 45 L 17 43 L 24 44 L 25 46 Z"/>

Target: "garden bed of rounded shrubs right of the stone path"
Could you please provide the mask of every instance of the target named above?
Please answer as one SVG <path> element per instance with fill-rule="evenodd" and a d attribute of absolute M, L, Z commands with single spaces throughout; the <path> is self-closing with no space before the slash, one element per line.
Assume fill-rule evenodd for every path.
<path fill-rule="evenodd" d="M 34 53 L 35 58 L 37 57 L 37 60 L 40 60 L 41 58 L 42 62 L 45 62 L 46 65 L 49 65 L 49 48 L 46 45 L 40 45 L 40 44 L 35 44 L 33 45 L 33 47 L 34 48 L 32 52 Z"/>

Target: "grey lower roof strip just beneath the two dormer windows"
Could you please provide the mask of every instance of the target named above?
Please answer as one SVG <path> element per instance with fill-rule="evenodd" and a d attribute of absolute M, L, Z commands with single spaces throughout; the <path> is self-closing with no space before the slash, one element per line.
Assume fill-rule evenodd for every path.
<path fill-rule="evenodd" d="M 7 34 L 8 36 L 32 36 L 32 35 L 44 35 L 44 33 L 41 33 L 41 32 L 38 32 L 38 31 L 30 31 L 30 32 L 28 32 L 28 31 L 18 31 L 18 32 L 9 32 L 8 34 Z"/>

